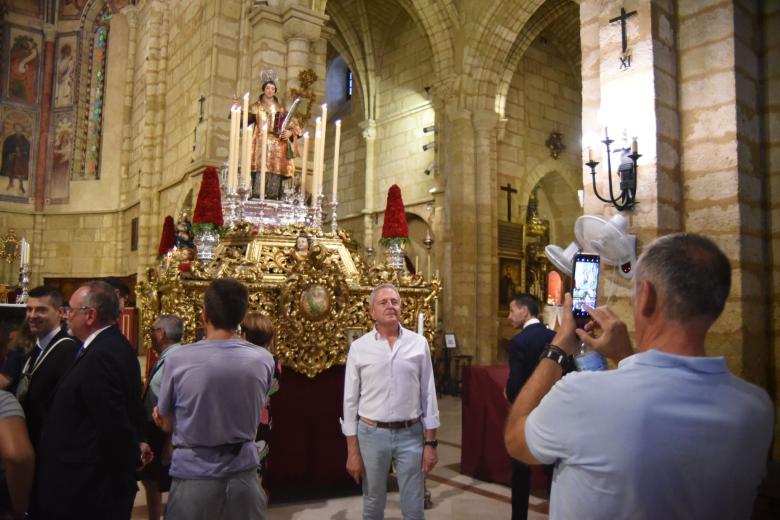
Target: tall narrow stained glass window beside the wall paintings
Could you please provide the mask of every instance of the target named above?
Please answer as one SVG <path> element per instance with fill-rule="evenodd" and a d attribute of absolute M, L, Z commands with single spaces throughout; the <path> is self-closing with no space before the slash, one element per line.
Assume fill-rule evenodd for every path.
<path fill-rule="evenodd" d="M 103 135 L 103 108 L 105 106 L 106 55 L 110 15 L 101 15 L 92 35 L 89 63 L 89 105 L 86 111 L 84 157 L 85 179 L 100 178 L 100 144 Z"/>

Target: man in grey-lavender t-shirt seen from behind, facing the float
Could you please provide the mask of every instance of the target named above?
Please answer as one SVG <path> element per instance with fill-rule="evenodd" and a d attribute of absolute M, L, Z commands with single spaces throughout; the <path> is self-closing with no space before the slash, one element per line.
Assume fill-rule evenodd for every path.
<path fill-rule="evenodd" d="M 240 282 L 213 281 L 203 299 L 206 339 L 166 358 L 154 414 L 175 447 L 166 519 L 265 518 L 254 440 L 274 361 L 236 335 L 247 306 Z"/>

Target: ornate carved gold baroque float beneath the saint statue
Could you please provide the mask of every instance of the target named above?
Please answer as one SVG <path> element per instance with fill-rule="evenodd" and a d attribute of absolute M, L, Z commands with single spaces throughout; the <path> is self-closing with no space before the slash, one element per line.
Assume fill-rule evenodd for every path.
<path fill-rule="evenodd" d="M 307 254 L 294 249 L 301 235 L 312 240 Z M 170 257 L 136 288 L 144 345 L 151 345 L 149 327 L 163 313 L 180 316 L 183 341 L 196 341 L 202 335 L 203 291 L 211 280 L 232 277 L 249 288 L 250 308 L 274 320 L 277 355 L 285 367 L 309 377 L 344 364 L 349 339 L 373 327 L 368 295 L 380 283 L 393 283 L 401 292 L 405 327 L 416 330 L 417 316 L 424 314 L 425 336 L 433 346 L 440 281 L 370 266 L 347 247 L 350 242 L 343 230 L 291 225 L 254 234 L 241 223 L 222 238 L 208 264 Z"/>

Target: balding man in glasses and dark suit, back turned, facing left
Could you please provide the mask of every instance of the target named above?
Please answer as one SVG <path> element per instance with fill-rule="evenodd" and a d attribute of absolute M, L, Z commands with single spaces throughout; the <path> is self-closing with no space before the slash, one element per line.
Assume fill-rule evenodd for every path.
<path fill-rule="evenodd" d="M 135 469 L 151 456 L 148 446 L 139 448 L 141 373 L 118 315 L 116 293 L 105 282 L 87 282 L 70 298 L 70 329 L 83 346 L 41 434 L 35 518 L 130 518 Z"/>

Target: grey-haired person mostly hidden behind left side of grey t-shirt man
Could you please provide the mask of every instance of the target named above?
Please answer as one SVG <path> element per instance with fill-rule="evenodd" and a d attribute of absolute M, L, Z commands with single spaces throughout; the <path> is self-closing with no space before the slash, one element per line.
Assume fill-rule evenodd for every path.
<path fill-rule="evenodd" d="M 165 358 L 182 346 L 179 342 L 184 335 L 184 323 L 178 316 L 163 314 L 154 322 L 149 335 L 152 338 L 152 348 L 160 356 L 149 374 L 143 398 L 145 438 L 155 458 L 139 472 L 139 477 L 146 491 L 149 520 L 159 520 L 163 513 L 162 493 L 171 487 L 171 477 L 168 474 L 171 466 L 171 436 L 154 423 L 152 412 L 160 396 Z"/>

